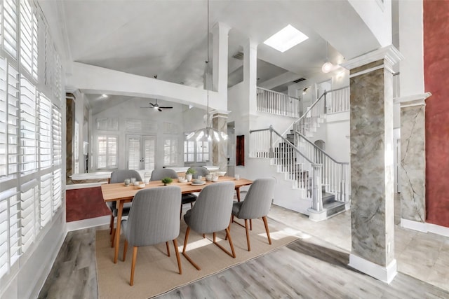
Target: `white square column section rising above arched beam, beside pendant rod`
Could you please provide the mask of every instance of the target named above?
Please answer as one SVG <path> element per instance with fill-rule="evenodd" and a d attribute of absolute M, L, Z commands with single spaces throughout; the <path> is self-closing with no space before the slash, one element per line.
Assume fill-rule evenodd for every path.
<path fill-rule="evenodd" d="M 217 23 L 213 27 L 213 91 L 220 94 L 220 99 L 227 101 L 227 53 L 228 33 L 231 27 Z"/>

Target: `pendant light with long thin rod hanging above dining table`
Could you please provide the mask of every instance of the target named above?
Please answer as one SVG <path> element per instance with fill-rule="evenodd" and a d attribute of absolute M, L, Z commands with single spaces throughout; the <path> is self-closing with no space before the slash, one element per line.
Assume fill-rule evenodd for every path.
<path fill-rule="evenodd" d="M 220 132 L 212 127 L 212 118 L 209 116 L 209 0 L 208 4 L 208 18 L 207 18 L 207 60 L 206 60 L 206 97 L 207 97 L 207 109 L 206 109 L 206 127 L 196 130 L 187 135 L 187 140 L 195 141 L 225 141 L 227 140 L 227 134 Z"/>

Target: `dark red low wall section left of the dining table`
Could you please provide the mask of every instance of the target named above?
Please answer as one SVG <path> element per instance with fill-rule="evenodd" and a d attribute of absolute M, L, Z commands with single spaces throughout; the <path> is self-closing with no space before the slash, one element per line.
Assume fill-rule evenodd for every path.
<path fill-rule="evenodd" d="M 65 198 L 67 222 L 111 214 L 103 200 L 101 187 L 66 190 Z"/>

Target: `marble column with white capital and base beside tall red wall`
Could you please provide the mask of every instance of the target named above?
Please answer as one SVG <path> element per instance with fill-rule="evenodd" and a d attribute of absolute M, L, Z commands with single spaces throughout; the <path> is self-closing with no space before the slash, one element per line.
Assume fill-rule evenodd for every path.
<path fill-rule="evenodd" d="M 401 104 L 401 225 L 427 232 L 425 102 L 430 93 Z"/>

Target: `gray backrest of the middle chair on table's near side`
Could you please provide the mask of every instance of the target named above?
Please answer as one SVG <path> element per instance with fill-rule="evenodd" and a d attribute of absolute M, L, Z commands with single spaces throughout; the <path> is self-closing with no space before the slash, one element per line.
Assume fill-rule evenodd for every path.
<path fill-rule="evenodd" d="M 201 190 L 189 226 L 200 234 L 218 232 L 229 225 L 235 185 L 232 181 L 213 183 Z"/>

